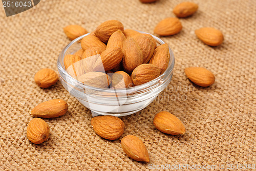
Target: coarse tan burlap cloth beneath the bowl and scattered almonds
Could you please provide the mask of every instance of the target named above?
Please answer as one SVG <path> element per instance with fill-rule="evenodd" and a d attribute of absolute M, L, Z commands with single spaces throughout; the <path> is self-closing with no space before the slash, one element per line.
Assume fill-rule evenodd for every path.
<path fill-rule="evenodd" d="M 41 1 L 10 17 L 1 7 L 0 169 L 150 169 L 148 163 L 124 154 L 121 138 L 109 141 L 97 136 L 90 124 L 90 110 L 70 96 L 59 81 L 50 89 L 41 89 L 34 82 L 34 74 L 42 68 L 57 71 L 58 55 L 70 42 L 62 30 L 67 25 L 78 24 L 93 31 L 105 20 L 118 19 L 125 28 L 153 33 L 161 19 L 174 16 L 172 9 L 181 2 Z M 123 136 L 141 138 L 152 167 L 225 164 L 227 169 L 227 164 L 256 164 L 256 3 L 194 2 L 199 10 L 193 17 L 181 19 L 181 33 L 162 38 L 175 54 L 172 81 L 147 108 L 121 117 Z M 220 29 L 223 44 L 216 48 L 204 45 L 194 33 L 200 27 Z M 216 82 L 209 88 L 191 83 L 184 74 L 191 66 L 209 69 Z M 31 143 L 26 137 L 27 124 L 33 118 L 29 112 L 38 103 L 55 98 L 68 102 L 68 113 L 45 119 L 50 125 L 49 139 L 40 145 Z M 161 111 L 180 118 L 186 134 L 159 132 L 153 118 Z"/>

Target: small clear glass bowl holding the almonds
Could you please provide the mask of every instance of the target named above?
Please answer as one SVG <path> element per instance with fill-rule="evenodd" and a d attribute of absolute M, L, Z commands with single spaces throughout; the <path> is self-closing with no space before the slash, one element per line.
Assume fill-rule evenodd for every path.
<path fill-rule="evenodd" d="M 61 51 L 58 57 L 57 66 L 59 79 L 63 87 L 86 106 L 86 108 L 90 109 L 93 114 L 113 115 L 118 117 L 134 114 L 144 109 L 168 86 L 173 77 L 174 69 L 174 54 L 170 48 L 170 61 L 165 72 L 156 79 L 140 86 L 126 89 L 102 89 L 87 86 L 71 77 L 65 70 L 63 59 L 67 54 L 74 54 L 81 49 L 79 42 L 88 34 L 74 39 Z M 160 38 L 154 35 L 152 36 L 158 45 L 164 44 L 164 41 Z"/>

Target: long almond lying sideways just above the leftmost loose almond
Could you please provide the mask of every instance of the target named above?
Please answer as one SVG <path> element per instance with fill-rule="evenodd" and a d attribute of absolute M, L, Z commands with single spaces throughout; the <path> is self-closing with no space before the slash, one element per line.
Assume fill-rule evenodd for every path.
<path fill-rule="evenodd" d="M 56 118 L 66 114 L 68 111 L 68 104 L 61 99 L 53 99 L 42 102 L 35 106 L 30 112 L 31 115 L 40 118 Z"/>

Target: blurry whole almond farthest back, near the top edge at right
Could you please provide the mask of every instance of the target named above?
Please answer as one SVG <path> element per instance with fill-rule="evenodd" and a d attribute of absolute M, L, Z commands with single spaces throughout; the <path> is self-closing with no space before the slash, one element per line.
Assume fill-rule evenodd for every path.
<path fill-rule="evenodd" d="M 198 9 L 198 5 L 192 2 L 183 2 L 177 5 L 173 12 L 177 17 L 183 18 L 193 15 Z"/>

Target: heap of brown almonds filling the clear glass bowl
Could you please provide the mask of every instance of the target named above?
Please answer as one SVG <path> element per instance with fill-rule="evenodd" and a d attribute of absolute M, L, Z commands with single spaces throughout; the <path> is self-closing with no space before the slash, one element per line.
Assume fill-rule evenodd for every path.
<path fill-rule="evenodd" d="M 73 39 L 85 33 L 79 28 L 66 27 L 65 33 Z M 81 49 L 66 55 L 64 65 L 72 77 L 89 86 L 128 88 L 160 76 L 169 59 L 167 44 L 157 46 L 150 34 L 124 30 L 118 20 L 108 20 L 82 38 Z"/>

